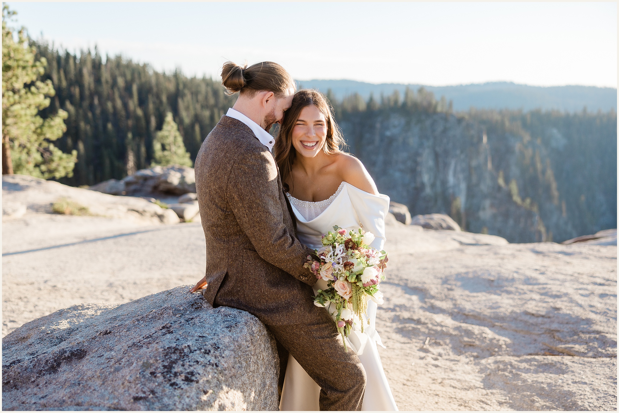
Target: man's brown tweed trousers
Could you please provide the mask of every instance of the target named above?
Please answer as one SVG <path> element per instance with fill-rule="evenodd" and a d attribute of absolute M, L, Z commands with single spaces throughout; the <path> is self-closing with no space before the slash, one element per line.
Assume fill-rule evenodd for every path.
<path fill-rule="evenodd" d="M 363 365 L 352 349 L 344 348 L 329 314 L 319 307 L 314 309 L 315 317 L 304 323 L 267 325 L 278 342 L 280 386 L 288 354 L 292 354 L 321 387 L 321 410 L 360 411 L 366 381 Z"/>

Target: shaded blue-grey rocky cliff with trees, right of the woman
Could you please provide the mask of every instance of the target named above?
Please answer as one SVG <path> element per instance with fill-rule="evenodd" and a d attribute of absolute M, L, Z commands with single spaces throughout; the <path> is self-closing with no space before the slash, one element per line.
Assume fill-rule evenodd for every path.
<path fill-rule="evenodd" d="M 341 113 L 379 190 L 412 215 L 446 213 L 509 242 L 563 241 L 617 226 L 617 114 Z"/>

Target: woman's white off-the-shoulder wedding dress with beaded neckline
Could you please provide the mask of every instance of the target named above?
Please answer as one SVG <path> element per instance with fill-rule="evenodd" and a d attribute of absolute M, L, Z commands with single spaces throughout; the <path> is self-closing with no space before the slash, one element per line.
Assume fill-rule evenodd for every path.
<path fill-rule="evenodd" d="M 342 182 L 337 192 L 329 199 L 320 202 L 298 200 L 288 194 L 292 209 L 297 217 L 297 236 L 310 248 L 322 247 L 321 236 L 333 231 L 333 226 L 357 230 L 363 228 L 376 236 L 370 244 L 378 250 L 385 242 L 384 219 L 389 212 L 389 197 L 368 194 L 363 190 Z M 318 289 L 325 289 L 327 282 L 319 279 L 314 285 L 314 294 Z M 364 332 L 353 331 L 347 338 L 348 351 L 354 351 L 359 357 L 367 377 L 362 411 L 397 411 L 396 401 L 391 394 L 383 364 L 378 356 L 376 344 L 383 346 L 376 332 L 376 303 L 368 302 L 368 318 L 365 320 Z M 384 347 L 384 346 L 383 346 Z M 309 377 L 294 357 L 288 357 L 284 388 L 280 400 L 280 411 L 318 411 L 320 387 Z"/>

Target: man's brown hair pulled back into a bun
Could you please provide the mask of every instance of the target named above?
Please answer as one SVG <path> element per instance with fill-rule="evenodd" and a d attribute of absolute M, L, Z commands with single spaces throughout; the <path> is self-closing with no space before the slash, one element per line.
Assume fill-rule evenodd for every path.
<path fill-rule="evenodd" d="M 292 87 L 296 89 L 295 81 L 284 69 L 275 62 L 260 62 L 251 66 L 238 66 L 234 62 L 225 62 L 222 68 L 222 85 L 226 95 L 240 92 L 243 95 L 256 95 L 256 92 L 268 90 L 275 96 L 287 95 Z"/>

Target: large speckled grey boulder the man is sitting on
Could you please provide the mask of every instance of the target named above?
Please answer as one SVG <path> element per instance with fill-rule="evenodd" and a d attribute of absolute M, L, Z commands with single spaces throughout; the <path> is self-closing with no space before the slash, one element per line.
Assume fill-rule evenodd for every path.
<path fill-rule="evenodd" d="M 2 409 L 277 410 L 272 336 L 190 287 L 17 328 L 2 339 Z"/>

